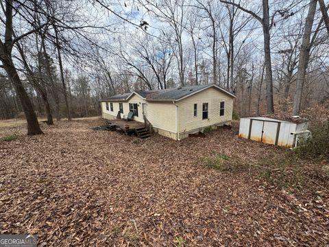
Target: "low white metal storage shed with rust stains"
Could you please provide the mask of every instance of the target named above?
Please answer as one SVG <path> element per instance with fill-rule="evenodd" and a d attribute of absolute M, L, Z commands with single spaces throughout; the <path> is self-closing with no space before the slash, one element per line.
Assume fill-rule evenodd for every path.
<path fill-rule="evenodd" d="M 308 134 L 307 126 L 307 121 L 294 123 L 269 117 L 243 117 L 239 137 L 293 148 L 298 134 Z"/>

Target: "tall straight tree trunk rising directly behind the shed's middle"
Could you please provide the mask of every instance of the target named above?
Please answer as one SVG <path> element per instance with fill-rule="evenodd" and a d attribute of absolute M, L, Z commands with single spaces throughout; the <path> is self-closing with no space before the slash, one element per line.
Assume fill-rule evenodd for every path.
<path fill-rule="evenodd" d="M 263 34 L 264 34 L 264 50 L 265 50 L 265 81 L 266 81 L 267 113 L 274 113 L 268 0 L 263 0 Z"/>

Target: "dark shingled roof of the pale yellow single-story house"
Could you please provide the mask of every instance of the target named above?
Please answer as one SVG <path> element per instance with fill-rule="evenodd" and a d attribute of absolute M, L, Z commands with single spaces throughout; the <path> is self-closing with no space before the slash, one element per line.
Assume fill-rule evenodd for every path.
<path fill-rule="evenodd" d="M 184 87 L 178 87 L 174 89 L 162 89 L 158 91 L 135 91 L 138 95 L 145 98 L 149 101 L 161 101 L 161 100 L 178 100 L 182 97 L 186 97 L 190 95 L 191 93 L 195 93 L 197 91 L 200 91 L 202 89 L 209 88 L 211 86 L 215 86 L 215 84 L 206 84 L 206 85 L 197 85 L 197 86 L 184 86 Z M 219 86 L 216 85 L 218 89 L 223 91 L 223 93 L 227 93 L 228 95 L 231 95 L 234 97 L 234 95 L 225 89 L 221 89 Z M 113 100 L 113 101 L 125 101 L 127 100 L 128 96 L 131 95 L 131 93 L 123 93 L 121 95 L 114 95 L 112 97 L 109 97 L 108 99 L 103 99 L 103 101 L 107 100 Z"/>

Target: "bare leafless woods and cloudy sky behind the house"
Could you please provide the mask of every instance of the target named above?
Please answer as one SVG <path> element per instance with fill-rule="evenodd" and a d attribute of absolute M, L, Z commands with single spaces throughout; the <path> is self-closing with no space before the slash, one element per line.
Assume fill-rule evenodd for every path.
<path fill-rule="evenodd" d="M 100 114 L 133 90 L 215 83 L 241 117 L 328 101 L 328 3 L 1 1 L 0 118 Z"/>

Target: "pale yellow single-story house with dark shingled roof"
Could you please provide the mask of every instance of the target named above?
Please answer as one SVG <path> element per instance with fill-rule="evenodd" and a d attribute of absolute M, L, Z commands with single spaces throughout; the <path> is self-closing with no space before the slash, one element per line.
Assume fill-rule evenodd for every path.
<path fill-rule="evenodd" d="M 147 119 L 155 132 L 181 140 L 205 128 L 230 125 L 234 97 L 215 84 L 134 91 L 102 99 L 101 113 L 104 119 L 116 119 L 132 111 L 135 121 Z"/>

